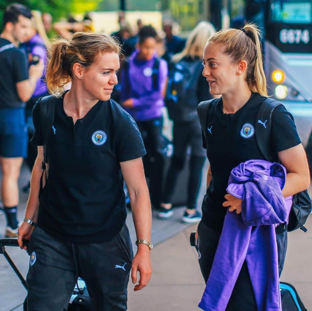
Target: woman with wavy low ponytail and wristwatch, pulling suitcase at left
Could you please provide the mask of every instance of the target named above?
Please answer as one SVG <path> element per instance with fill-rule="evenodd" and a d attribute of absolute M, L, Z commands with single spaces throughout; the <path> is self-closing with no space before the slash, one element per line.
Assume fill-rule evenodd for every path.
<path fill-rule="evenodd" d="M 38 157 L 18 230 L 20 247 L 30 238 L 29 311 L 67 310 L 78 277 L 94 310 L 126 310 L 130 271 L 133 284 L 140 273 L 135 291 L 151 277 L 146 152 L 133 118 L 110 99 L 120 52 L 113 37 L 96 33 L 76 32 L 70 41 L 51 45 L 46 83 L 52 95 L 33 109 L 31 142 Z M 135 256 L 124 181 L 138 239 Z"/>

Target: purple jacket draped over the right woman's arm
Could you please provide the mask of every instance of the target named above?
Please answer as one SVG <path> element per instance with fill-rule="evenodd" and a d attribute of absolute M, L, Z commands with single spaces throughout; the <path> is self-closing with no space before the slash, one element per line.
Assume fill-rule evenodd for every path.
<path fill-rule="evenodd" d="M 281 311 L 275 226 L 287 222 L 292 196 L 284 199 L 286 170 L 279 163 L 249 160 L 235 167 L 227 191 L 242 199 L 229 212 L 206 289 L 198 305 L 224 311 L 246 260 L 259 311 Z"/>

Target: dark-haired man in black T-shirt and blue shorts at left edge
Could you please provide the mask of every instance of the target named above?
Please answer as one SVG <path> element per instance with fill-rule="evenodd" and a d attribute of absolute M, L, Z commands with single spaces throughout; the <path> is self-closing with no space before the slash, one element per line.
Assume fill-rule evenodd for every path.
<path fill-rule="evenodd" d="M 1 194 L 7 217 L 5 236 L 16 237 L 18 221 L 17 180 L 27 154 L 25 102 L 30 99 L 41 77 L 43 63 L 28 69 L 26 55 L 17 48 L 28 37 L 32 14 L 21 4 L 7 7 L 0 35 L 0 164 Z"/>

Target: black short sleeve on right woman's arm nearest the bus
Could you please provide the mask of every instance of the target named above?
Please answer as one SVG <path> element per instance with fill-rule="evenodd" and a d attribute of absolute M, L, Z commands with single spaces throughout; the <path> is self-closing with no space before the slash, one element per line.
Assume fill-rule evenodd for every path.
<path fill-rule="evenodd" d="M 272 112 L 271 137 L 274 152 L 295 147 L 301 143 L 295 121 L 285 106 L 277 106 Z"/>

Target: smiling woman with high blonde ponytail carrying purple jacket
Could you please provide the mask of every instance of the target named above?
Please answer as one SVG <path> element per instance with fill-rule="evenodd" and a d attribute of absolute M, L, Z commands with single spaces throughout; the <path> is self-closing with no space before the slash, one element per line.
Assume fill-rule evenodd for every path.
<path fill-rule="evenodd" d="M 230 173 L 242 162 L 265 160 L 255 135 L 256 122 L 265 127 L 266 120 L 257 120 L 257 113 L 268 96 L 259 35 L 254 24 L 218 31 L 210 37 L 204 49 L 202 74 L 209 83 L 210 92 L 222 95 L 211 101 L 213 109 L 209 111 L 213 113 L 207 114 L 205 127 L 202 128 L 203 147 L 207 149 L 210 166 L 207 192 L 202 203 L 202 220 L 197 229 L 197 246 L 199 265 L 206 283 L 227 210 L 241 213 L 242 200 L 226 191 Z M 282 190 L 284 198 L 307 189 L 310 175 L 305 150 L 294 119 L 283 105 L 272 112 L 271 147 L 286 169 Z M 275 233 L 281 273 L 287 230 L 284 225 L 279 225 Z M 257 310 L 250 273 L 245 261 L 226 310 Z"/>

